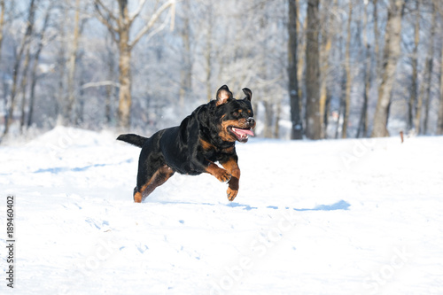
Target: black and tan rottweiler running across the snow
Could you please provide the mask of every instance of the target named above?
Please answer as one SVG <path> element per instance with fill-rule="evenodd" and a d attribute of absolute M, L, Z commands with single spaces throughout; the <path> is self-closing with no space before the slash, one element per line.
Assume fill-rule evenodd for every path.
<path fill-rule="evenodd" d="M 247 88 L 243 92 L 246 97 L 237 100 L 228 86 L 223 85 L 215 100 L 198 106 L 180 126 L 159 130 L 150 138 L 135 134 L 117 138 L 142 148 L 134 189 L 136 203 L 142 202 L 175 172 L 214 175 L 219 181 L 228 182 L 229 201 L 236 198 L 240 169 L 235 144 L 247 142 L 255 128 L 253 92 Z M 217 161 L 223 168 L 215 164 Z"/>

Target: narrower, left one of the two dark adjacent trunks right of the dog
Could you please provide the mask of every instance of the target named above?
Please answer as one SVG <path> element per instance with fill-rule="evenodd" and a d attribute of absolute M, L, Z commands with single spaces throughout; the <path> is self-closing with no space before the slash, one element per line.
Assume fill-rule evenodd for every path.
<path fill-rule="evenodd" d="M 299 80 L 298 74 L 298 35 L 297 20 L 298 11 L 295 0 L 288 0 L 289 5 L 289 48 L 288 48 L 288 77 L 289 77 L 289 96 L 291 105 L 291 139 L 301 139 L 303 137 L 303 125 L 301 123 L 301 112 L 299 102 Z"/>

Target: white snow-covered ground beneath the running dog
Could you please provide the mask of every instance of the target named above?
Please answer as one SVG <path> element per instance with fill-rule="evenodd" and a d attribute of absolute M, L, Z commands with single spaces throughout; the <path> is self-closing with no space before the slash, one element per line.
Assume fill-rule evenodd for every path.
<path fill-rule="evenodd" d="M 237 144 L 233 203 L 174 175 L 134 204 L 139 149 L 55 128 L 0 147 L 0 293 L 443 294 L 443 137 Z"/>

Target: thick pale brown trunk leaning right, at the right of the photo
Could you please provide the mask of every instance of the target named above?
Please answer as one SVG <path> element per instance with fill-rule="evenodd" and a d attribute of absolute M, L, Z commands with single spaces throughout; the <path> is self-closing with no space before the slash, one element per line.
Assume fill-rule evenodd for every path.
<path fill-rule="evenodd" d="M 378 87 L 378 100 L 374 115 L 372 137 L 389 136 L 387 123 L 391 105 L 392 87 L 395 82 L 395 70 L 400 57 L 401 18 L 404 0 L 390 0 L 385 32 L 385 50 L 383 53 L 383 76 Z"/>

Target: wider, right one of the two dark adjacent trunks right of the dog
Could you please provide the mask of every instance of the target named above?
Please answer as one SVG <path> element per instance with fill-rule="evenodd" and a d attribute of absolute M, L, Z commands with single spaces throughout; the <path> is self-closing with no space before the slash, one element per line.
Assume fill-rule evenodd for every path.
<path fill-rule="evenodd" d="M 306 135 L 309 139 L 322 136 L 322 115 L 320 113 L 320 65 L 319 65 L 319 0 L 307 1 L 307 124 Z"/>

